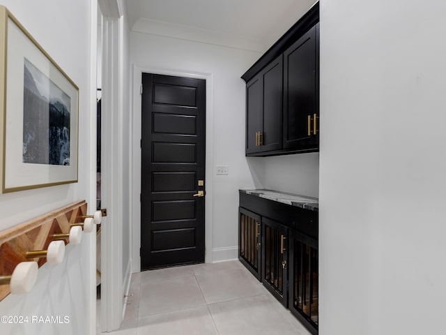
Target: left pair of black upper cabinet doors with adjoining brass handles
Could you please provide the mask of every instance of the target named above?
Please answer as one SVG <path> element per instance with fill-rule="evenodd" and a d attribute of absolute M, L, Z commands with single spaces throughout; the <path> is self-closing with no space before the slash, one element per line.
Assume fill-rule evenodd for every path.
<path fill-rule="evenodd" d="M 282 149 L 282 55 L 246 85 L 246 154 Z"/>

